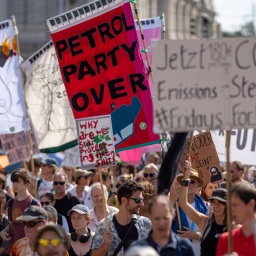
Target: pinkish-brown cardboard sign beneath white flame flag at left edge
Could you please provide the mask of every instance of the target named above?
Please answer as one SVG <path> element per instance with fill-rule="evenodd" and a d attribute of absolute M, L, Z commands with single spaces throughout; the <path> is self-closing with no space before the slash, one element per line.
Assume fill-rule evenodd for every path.
<path fill-rule="evenodd" d="M 31 133 L 33 154 L 38 154 L 38 144 L 35 134 Z M 10 164 L 28 160 L 30 158 L 30 149 L 27 132 L 1 135 L 3 147 L 6 151 Z"/>

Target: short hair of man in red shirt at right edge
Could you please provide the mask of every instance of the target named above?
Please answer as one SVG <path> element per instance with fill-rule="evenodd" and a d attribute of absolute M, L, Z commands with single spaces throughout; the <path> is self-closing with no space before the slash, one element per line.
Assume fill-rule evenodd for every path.
<path fill-rule="evenodd" d="M 237 195 L 245 204 L 248 204 L 253 199 L 255 201 L 254 211 L 256 211 L 256 189 L 252 184 L 237 182 L 232 185 L 230 194 Z"/>

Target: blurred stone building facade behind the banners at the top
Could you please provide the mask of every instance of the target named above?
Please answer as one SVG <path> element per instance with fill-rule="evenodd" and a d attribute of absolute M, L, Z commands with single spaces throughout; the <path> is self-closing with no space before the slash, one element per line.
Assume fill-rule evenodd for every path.
<path fill-rule="evenodd" d="M 50 40 L 46 20 L 92 0 L 1 0 L 1 21 L 15 15 L 21 55 L 31 56 Z M 101 0 L 104 1 L 104 0 Z M 113 1 L 113 0 L 105 0 Z M 140 18 L 165 14 L 167 37 L 216 37 L 212 0 L 138 0 Z"/>

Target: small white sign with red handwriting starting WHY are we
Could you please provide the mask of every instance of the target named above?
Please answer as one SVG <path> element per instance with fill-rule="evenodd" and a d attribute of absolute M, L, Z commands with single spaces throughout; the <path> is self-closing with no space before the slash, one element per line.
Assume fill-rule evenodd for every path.
<path fill-rule="evenodd" d="M 76 122 L 82 167 L 94 169 L 115 165 L 111 116 L 78 119 Z"/>

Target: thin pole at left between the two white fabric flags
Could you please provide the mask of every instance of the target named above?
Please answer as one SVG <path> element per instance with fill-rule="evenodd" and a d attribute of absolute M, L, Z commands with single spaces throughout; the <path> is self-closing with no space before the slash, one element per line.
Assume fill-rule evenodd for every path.
<path fill-rule="evenodd" d="M 17 28 L 17 23 L 16 23 L 16 18 L 15 16 L 11 16 L 11 20 L 12 20 L 12 24 L 13 24 L 13 28 L 14 28 L 14 38 L 15 38 L 15 41 L 16 41 L 16 47 L 17 47 L 17 53 L 18 53 L 18 56 L 19 56 L 19 59 L 21 58 L 21 55 L 20 55 L 20 45 L 19 45 L 19 38 L 18 38 L 18 28 Z M 19 65 L 19 68 L 20 68 L 20 65 Z M 24 88 L 24 79 L 23 79 L 23 73 L 22 73 L 22 70 L 20 68 L 20 72 L 21 72 L 21 80 L 22 80 L 22 85 L 23 85 L 23 88 Z M 34 159 L 33 159 L 33 146 L 32 146 L 32 136 L 31 136 L 31 127 L 30 127 L 30 122 L 29 122 L 29 117 L 28 117 L 28 107 L 27 107 L 27 103 L 26 103 L 26 99 L 24 98 L 24 101 L 25 101 L 25 105 L 26 105 L 26 116 L 27 116 L 27 125 L 28 125 L 28 143 L 29 143 L 29 156 L 30 156 L 30 160 L 31 160 L 31 171 L 33 173 L 34 176 L 35 175 L 35 163 L 34 163 Z M 35 191 L 36 191 L 36 187 L 35 187 Z M 36 195 L 36 193 L 35 193 Z"/>

